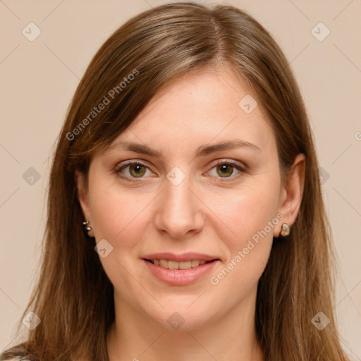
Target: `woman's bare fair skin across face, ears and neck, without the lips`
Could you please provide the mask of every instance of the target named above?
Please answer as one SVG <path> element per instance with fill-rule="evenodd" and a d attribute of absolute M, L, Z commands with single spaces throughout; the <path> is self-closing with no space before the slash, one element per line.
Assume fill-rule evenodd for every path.
<path fill-rule="evenodd" d="M 113 246 L 100 258 L 114 285 L 111 361 L 264 360 L 255 334 L 257 283 L 273 237 L 279 236 L 283 222 L 292 226 L 298 214 L 305 157 L 295 158 L 282 182 L 276 138 L 267 119 L 259 106 L 246 114 L 238 105 L 246 94 L 257 99 L 230 68 L 188 74 L 159 92 L 114 141 L 147 145 L 162 157 L 111 147 L 94 155 L 87 187 L 76 173 L 90 235 Z M 234 139 L 259 149 L 194 156 L 198 147 Z M 221 167 L 217 171 L 229 159 L 247 168 L 231 166 L 226 175 Z M 130 166 L 122 169 L 124 178 L 116 173 L 126 160 L 146 164 L 140 167 L 140 178 L 134 170 L 130 173 Z M 175 166 L 185 175 L 178 185 L 166 178 Z M 210 283 L 209 277 L 224 269 L 277 214 L 283 220 L 216 286 Z M 142 260 L 166 251 L 205 253 L 220 262 L 192 284 L 169 286 Z M 167 322 L 173 312 L 184 320 L 178 330 Z"/>

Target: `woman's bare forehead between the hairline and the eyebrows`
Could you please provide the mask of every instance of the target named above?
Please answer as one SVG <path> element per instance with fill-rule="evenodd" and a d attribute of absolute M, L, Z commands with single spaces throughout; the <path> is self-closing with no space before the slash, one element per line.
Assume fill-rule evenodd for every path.
<path fill-rule="evenodd" d="M 230 68 L 190 73 L 159 91 L 114 142 L 132 140 L 173 151 L 177 145 L 184 152 L 237 138 L 267 149 L 275 146 L 275 138 L 256 104 L 255 92 Z"/>

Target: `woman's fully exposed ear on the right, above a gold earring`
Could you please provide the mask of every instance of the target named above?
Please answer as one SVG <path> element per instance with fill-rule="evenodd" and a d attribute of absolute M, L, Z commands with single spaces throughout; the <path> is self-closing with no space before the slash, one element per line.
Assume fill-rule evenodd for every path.
<path fill-rule="evenodd" d="M 298 154 L 295 157 L 293 166 L 291 167 L 287 179 L 282 185 L 279 212 L 283 214 L 282 223 L 287 223 L 288 226 L 293 226 L 300 210 L 303 190 L 305 185 L 305 154 Z M 281 230 L 281 224 L 279 231 Z M 275 237 L 279 237 L 279 231 Z"/>

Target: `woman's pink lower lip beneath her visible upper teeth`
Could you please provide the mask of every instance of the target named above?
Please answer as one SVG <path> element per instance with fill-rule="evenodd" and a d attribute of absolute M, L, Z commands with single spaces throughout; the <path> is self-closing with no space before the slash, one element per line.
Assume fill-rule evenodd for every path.
<path fill-rule="evenodd" d="M 153 264 L 152 262 L 148 262 L 145 259 L 143 259 L 143 262 L 147 264 L 147 267 L 149 267 L 152 274 L 161 281 L 173 286 L 182 286 L 200 279 L 211 271 L 219 260 L 216 259 L 212 262 L 200 264 L 199 266 L 190 269 L 167 269 L 157 266 L 157 264 Z"/>

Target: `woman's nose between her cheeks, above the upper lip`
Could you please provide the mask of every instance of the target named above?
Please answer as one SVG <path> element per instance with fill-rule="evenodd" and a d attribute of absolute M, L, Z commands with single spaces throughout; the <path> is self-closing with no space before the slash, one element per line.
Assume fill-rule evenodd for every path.
<path fill-rule="evenodd" d="M 165 189 L 159 197 L 155 226 L 159 231 L 169 233 L 171 238 L 198 233 L 204 226 L 202 202 L 195 190 L 190 189 L 189 178 L 185 177 L 178 185 L 165 179 Z"/>

